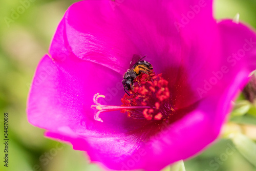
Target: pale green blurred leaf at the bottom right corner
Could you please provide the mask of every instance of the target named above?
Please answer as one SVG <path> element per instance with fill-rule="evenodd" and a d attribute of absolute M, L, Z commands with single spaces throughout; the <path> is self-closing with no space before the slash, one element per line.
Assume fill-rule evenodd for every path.
<path fill-rule="evenodd" d="M 244 158 L 256 166 L 256 143 L 241 133 L 231 134 L 230 136 Z"/>

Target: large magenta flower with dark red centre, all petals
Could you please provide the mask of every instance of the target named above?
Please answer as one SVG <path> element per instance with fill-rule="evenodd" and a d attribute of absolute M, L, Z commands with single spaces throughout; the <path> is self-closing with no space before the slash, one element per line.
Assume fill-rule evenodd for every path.
<path fill-rule="evenodd" d="M 107 168 L 159 170 L 217 138 L 256 68 L 256 35 L 241 23 L 216 22 L 212 1 L 82 1 L 61 20 L 49 54 L 33 79 L 29 122 Z M 155 102 L 168 97 L 169 107 L 132 113 L 147 119 L 112 111 L 95 120 L 95 94 L 105 96 L 100 105 L 122 105 L 122 77 L 135 54 L 167 81 Z M 145 91 L 154 96 L 148 89 L 143 98 Z"/>

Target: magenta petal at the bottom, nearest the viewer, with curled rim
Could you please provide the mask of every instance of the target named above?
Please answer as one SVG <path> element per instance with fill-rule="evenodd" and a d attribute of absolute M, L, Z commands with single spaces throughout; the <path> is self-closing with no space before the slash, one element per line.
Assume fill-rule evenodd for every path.
<path fill-rule="evenodd" d="M 217 137 L 220 126 L 214 126 L 215 115 L 221 112 L 222 118 L 218 119 L 224 121 L 227 112 L 216 109 L 217 99 L 219 97 L 201 101 L 193 112 L 174 124 L 165 125 L 163 131 L 146 142 L 136 135 L 92 137 L 77 135 L 69 129 L 46 136 L 71 142 L 74 149 L 87 151 L 92 162 L 104 163 L 111 169 L 160 170 L 198 153 Z"/>

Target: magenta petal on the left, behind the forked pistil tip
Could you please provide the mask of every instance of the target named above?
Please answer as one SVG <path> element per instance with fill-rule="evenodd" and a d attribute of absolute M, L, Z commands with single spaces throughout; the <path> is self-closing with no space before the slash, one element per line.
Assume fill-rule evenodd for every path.
<path fill-rule="evenodd" d="M 94 62 L 67 58 L 65 63 L 58 65 L 46 55 L 40 61 L 32 83 L 28 119 L 49 131 L 57 131 L 62 126 L 84 133 L 95 130 L 95 134 L 134 130 L 143 125 L 142 122 L 127 119 L 120 112 L 101 114 L 103 123 L 93 118 L 94 94 L 106 96 L 100 101 L 102 104 L 121 104 L 124 91 L 120 77 L 115 71 Z"/>

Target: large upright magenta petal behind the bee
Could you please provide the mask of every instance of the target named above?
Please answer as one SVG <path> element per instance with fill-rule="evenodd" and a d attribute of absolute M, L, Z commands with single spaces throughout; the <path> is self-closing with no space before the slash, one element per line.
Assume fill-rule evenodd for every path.
<path fill-rule="evenodd" d="M 204 61 L 212 54 L 208 43 L 216 44 L 217 33 L 211 5 L 212 1 L 201 0 L 150 1 L 146 6 L 139 1 L 82 1 L 65 14 L 50 54 L 58 59 L 63 52 L 74 53 L 120 74 L 126 71 L 134 54 L 147 55 L 146 60 L 153 63 L 154 70 L 164 73 L 170 84 L 177 86 L 180 79 L 188 77 L 188 72 L 193 72 L 194 79 L 194 73 L 201 72 L 198 69 L 206 66 Z M 192 18 L 191 13 L 195 14 Z M 198 27 L 202 22 L 204 25 Z M 178 29 L 177 24 L 182 27 Z M 218 56 L 217 53 L 212 55 Z M 212 61 L 207 62 L 212 65 Z M 189 91 L 174 93 L 184 99 L 177 103 L 178 107 L 198 100 Z M 191 94 L 190 98 L 185 94 Z"/>

